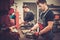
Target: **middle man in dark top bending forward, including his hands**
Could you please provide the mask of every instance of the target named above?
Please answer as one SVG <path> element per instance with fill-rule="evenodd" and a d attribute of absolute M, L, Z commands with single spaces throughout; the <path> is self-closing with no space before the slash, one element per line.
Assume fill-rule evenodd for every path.
<path fill-rule="evenodd" d="M 30 12 L 30 9 L 27 5 L 23 5 L 23 12 L 25 14 L 23 22 L 21 24 L 26 24 L 25 28 L 28 27 L 29 23 L 34 20 L 34 14 Z"/>

